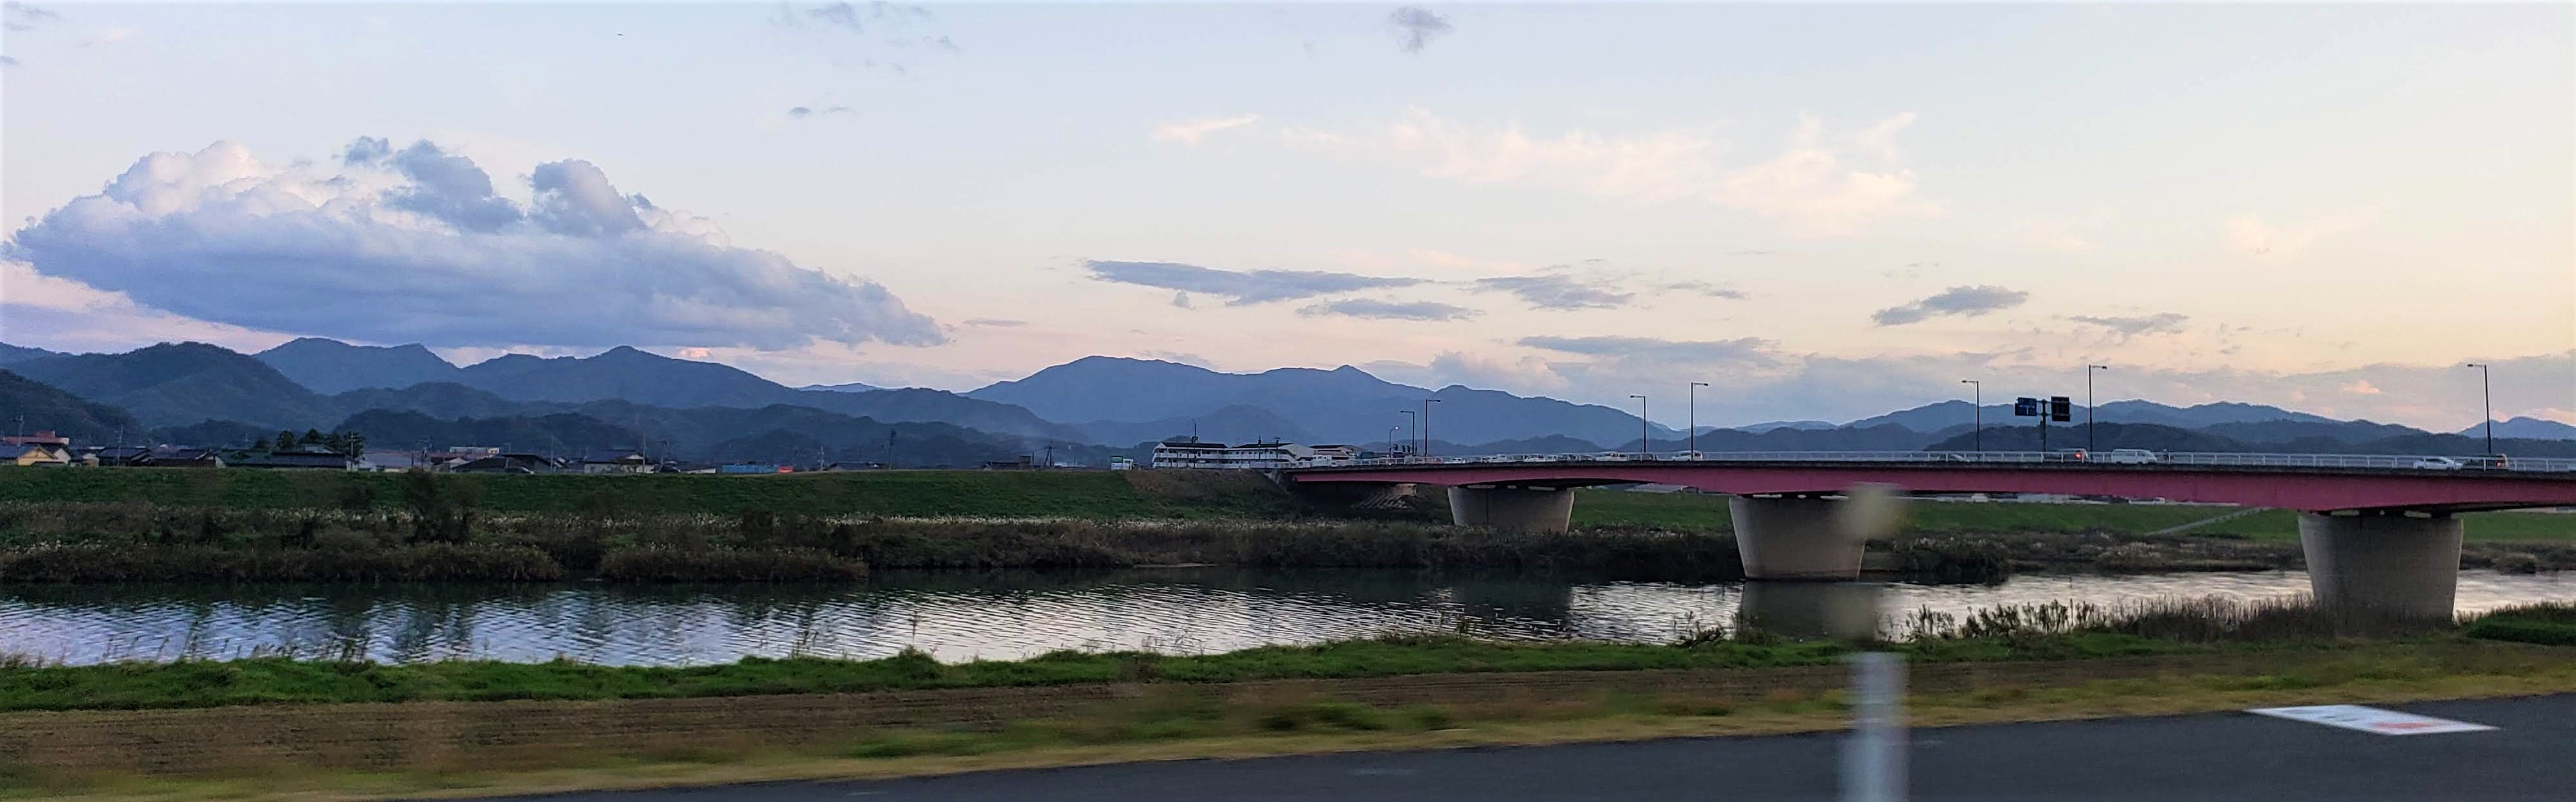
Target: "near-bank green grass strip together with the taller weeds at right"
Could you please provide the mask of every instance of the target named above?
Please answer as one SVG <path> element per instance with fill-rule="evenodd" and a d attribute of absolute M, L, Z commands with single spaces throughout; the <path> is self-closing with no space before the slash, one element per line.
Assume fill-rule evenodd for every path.
<path fill-rule="evenodd" d="M 2360 642 L 2501 640 L 2576 645 L 2576 606 L 2504 609 L 2465 624 L 2393 621 L 2290 601 L 2159 598 L 2128 606 L 2025 603 L 1968 616 L 1919 611 L 1875 647 L 1909 663 L 2025 663 L 2241 650 L 2331 650 Z M 1852 645 L 1790 640 L 1749 627 L 1685 632 L 1667 645 L 1507 642 L 1396 632 L 1327 645 L 1216 655 L 1048 652 L 1028 660 L 940 663 L 904 650 L 878 660 L 744 658 L 724 665 L 366 663 L 355 658 L 247 658 L 44 665 L 0 658 L 0 712 L 173 709 L 237 704 L 701 699 L 917 689 L 1079 683 L 1242 683 L 1278 678 L 1383 678 L 1432 673 L 1680 670 L 1837 665 Z M 355 652 L 348 652 L 355 655 Z"/>

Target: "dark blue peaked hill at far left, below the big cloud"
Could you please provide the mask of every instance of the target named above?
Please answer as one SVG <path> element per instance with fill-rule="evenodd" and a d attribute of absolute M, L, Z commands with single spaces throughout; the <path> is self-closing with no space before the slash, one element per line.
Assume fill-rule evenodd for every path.
<path fill-rule="evenodd" d="M 240 420 L 309 428 L 335 407 L 268 364 L 206 343 L 160 343 L 126 353 L 41 356 L 10 364 L 28 379 L 134 413 L 147 425 Z"/>

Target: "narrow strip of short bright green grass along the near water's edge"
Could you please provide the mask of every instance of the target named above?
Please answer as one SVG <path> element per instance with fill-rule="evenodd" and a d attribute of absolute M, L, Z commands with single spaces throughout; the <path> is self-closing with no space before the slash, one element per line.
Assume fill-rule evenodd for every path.
<path fill-rule="evenodd" d="M 2208 650 L 2172 640 L 2079 632 L 2014 640 L 1924 640 L 1901 645 L 1917 660 L 2110 658 Z M 1365 678 L 1414 673 L 1646 670 L 1834 665 L 1834 642 L 1489 642 L 1468 637 L 1388 637 L 1306 647 L 1255 647 L 1221 655 L 1051 652 L 1030 660 L 938 663 L 920 652 L 881 660 L 744 658 L 726 665 L 649 668 L 585 663 L 337 663 L 337 660 L 180 660 L 0 668 L 8 709 L 165 709 L 332 701 L 495 701 L 495 699 L 677 699 L 757 694 L 850 694 L 894 689 L 994 689 L 1113 681 Z"/>

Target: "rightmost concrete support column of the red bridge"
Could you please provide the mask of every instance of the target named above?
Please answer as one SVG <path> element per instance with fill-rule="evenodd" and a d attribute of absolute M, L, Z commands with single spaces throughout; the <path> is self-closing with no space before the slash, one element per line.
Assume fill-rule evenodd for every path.
<path fill-rule="evenodd" d="M 2460 518 L 2298 516 L 2308 588 L 2326 609 L 2450 619 L 2460 591 Z"/>

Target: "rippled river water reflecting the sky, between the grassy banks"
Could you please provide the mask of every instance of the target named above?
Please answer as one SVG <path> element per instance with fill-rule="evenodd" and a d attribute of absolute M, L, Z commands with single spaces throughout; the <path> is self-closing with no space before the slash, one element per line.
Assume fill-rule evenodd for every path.
<path fill-rule="evenodd" d="M 1919 609 L 2306 591 L 2303 572 L 2017 575 L 2002 585 L 1878 585 L 1878 598 L 1893 619 Z M 1757 606 L 1798 603 L 1780 601 L 1780 591 L 1752 596 Z M 2463 614 L 2527 601 L 2576 601 L 2576 575 L 2460 575 Z M 904 647 L 940 660 L 1224 652 L 1425 629 L 1664 642 L 1731 621 L 1744 603 L 1744 583 L 1404 570 L 884 572 L 858 585 L 15 585 L 0 588 L 0 655 L 103 663 L 291 650 L 706 665 L 744 655 L 884 658 Z"/>

